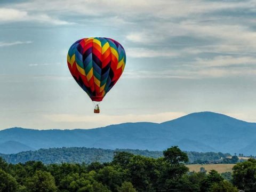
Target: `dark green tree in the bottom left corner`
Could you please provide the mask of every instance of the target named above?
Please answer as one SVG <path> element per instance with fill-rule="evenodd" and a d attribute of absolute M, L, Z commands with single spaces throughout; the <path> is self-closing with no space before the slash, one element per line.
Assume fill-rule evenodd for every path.
<path fill-rule="evenodd" d="M 17 181 L 8 173 L 0 169 L 0 192 L 16 191 Z"/>

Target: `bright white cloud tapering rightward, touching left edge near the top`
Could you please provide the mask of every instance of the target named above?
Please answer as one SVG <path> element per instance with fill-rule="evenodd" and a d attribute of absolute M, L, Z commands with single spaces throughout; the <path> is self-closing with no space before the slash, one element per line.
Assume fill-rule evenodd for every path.
<path fill-rule="evenodd" d="M 20 21 L 50 23 L 52 25 L 74 24 L 74 22 L 67 22 L 58 18 L 50 17 L 46 13 L 28 13 L 26 10 L 0 8 L 0 23 Z"/>

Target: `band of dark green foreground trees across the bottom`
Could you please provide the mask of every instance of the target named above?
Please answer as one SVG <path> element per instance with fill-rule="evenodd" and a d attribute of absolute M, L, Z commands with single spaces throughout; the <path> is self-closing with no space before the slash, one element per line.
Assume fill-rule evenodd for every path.
<path fill-rule="evenodd" d="M 189 172 L 188 155 L 178 147 L 151 158 L 118 151 L 109 163 L 9 164 L 0 159 L 0 191 L 251 191 L 256 160 L 238 163 L 233 173 Z"/>

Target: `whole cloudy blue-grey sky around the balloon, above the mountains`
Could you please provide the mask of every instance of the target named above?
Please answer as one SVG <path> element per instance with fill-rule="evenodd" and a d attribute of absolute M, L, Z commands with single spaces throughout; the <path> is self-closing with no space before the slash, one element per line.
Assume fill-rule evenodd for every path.
<path fill-rule="evenodd" d="M 256 1 L 0 1 L 0 130 L 90 129 L 213 111 L 256 122 Z M 110 37 L 124 73 L 93 113 L 67 67 Z"/>

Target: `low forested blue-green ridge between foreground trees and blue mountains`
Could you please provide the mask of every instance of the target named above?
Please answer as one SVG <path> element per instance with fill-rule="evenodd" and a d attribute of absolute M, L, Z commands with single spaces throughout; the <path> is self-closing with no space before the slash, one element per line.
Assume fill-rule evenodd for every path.
<path fill-rule="evenodd" d="M 142 155 L 146 157 L 159 158 L 163 157 L 162 151 L 148 151 L 148 150 L 133 150 L 133 149 L 96 149 L 86 147 L 62 147 L 39 149 L 36 151 L 25 151 L 18 154 L 0 154 L 6 162 L 17 164 L 25 163 L 27 161 L 41 161 L 44 164 L 53 163 L 92 163 L 100 162 L 106 163 L 113 161 L 115 151 L 125 151 L 134 155 Z M 186 152 L 188 154 L 188 163 L 212 163 L 218 162 L 221 158 L 231 156 L 230 154 L 222 153 L 198 153 Z"/>

